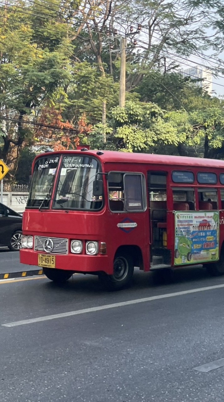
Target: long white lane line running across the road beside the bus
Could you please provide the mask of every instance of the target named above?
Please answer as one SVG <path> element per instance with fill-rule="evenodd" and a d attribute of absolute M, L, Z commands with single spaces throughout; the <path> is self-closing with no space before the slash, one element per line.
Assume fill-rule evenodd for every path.
<path fill-rule="evenodd" d="M 181 292 L 166 293 L 164 295 L 144 297 L 143 299 L 120 301 L 119 303 L 105 304 L 104 306 L 84 308 L 83 310 L 69 311 L 67 313 L 53 314 L 52 316 L 44 316 L 44 317 L 30 318 L 29 320 L 9 322 L 8 324 L 2 324 L 2 326 L 13 327 L 13 326 L 19 326 L 19 325 L 25 325 L 25 324 L 32 324 L 33 322 L 41 322 L 41 321 L 54 320 L 55 318 L 77 316 L 78 314 L 92 313 L 92 312 L 100 311 L 100 310 L 108 310 L 109 308 L 130 306 L 131 304 L 144 303 L 145 301 L 166 299 L 168 297 L 182 296 L 182 295 L 187 295 L 190 293 L 203 292 L 205 290 L 220 289 L 222 287 L 224 287 L 224 283 L 222 285 L 198 287 L 197 289 L 183 290 Z"/>

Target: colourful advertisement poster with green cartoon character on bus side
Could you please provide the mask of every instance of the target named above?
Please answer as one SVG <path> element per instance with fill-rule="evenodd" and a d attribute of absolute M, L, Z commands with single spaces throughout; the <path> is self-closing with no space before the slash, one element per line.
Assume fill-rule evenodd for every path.
<path fill-rule="evenodd" d="M 218 251 L 218 211 L 175 212 L 174 265 L 217 261 Z"/>

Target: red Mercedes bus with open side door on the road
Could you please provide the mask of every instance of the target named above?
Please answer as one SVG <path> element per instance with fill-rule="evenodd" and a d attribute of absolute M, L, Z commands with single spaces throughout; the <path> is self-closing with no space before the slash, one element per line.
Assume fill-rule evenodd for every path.
<path fill-rule="evenodd" d="M 224 274 L 224 162 L 113 151 L 33 162 L 20 260 L 52 281 L 99 275 L 121 289 L 143 271 L 203 264 Z"/>

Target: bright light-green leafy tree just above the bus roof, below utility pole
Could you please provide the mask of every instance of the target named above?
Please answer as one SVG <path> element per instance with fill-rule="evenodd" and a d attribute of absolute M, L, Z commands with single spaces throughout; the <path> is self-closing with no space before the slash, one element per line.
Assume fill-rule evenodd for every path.
<path fill-rule="evenodd" d="M 98 137 L 100 144 L 97 145 L 105 148 L 103 136 L 100 136 L 104 128 L 109 134 L 106 148 L 116 147 L 124 152 L 149 152 L 158 144 L 177 145 L 178 131 L 164 116 L 164 111 L 156 104 L 127 102 L 124 108 L 114 107 L 110 125 L 98 125 L 90 137 L 93 144 Z"/>

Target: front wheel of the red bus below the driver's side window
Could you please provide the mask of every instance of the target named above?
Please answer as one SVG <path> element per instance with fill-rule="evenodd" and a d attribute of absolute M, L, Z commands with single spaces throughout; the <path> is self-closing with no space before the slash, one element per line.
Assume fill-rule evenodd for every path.
<path fill-rule="evenodd" d="M 126 287 L 134 272 L 134 262 L 131 254 L 119 251 L 114 257 L 114 273 L 113 275 L 99 275 L 100 281 L 110 291 L 121 290 Z"/>

